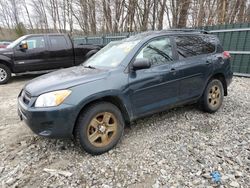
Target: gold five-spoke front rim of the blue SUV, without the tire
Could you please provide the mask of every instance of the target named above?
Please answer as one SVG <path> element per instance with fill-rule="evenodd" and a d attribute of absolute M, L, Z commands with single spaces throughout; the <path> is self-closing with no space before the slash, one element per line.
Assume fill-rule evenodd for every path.
<path fill-rule="evenodd" d="M 110 112 L 97 114 L 88 125 L 88 140 L 96 147 L 107 146 L 115 138 L 117 123 L 116 117 Z"/>

